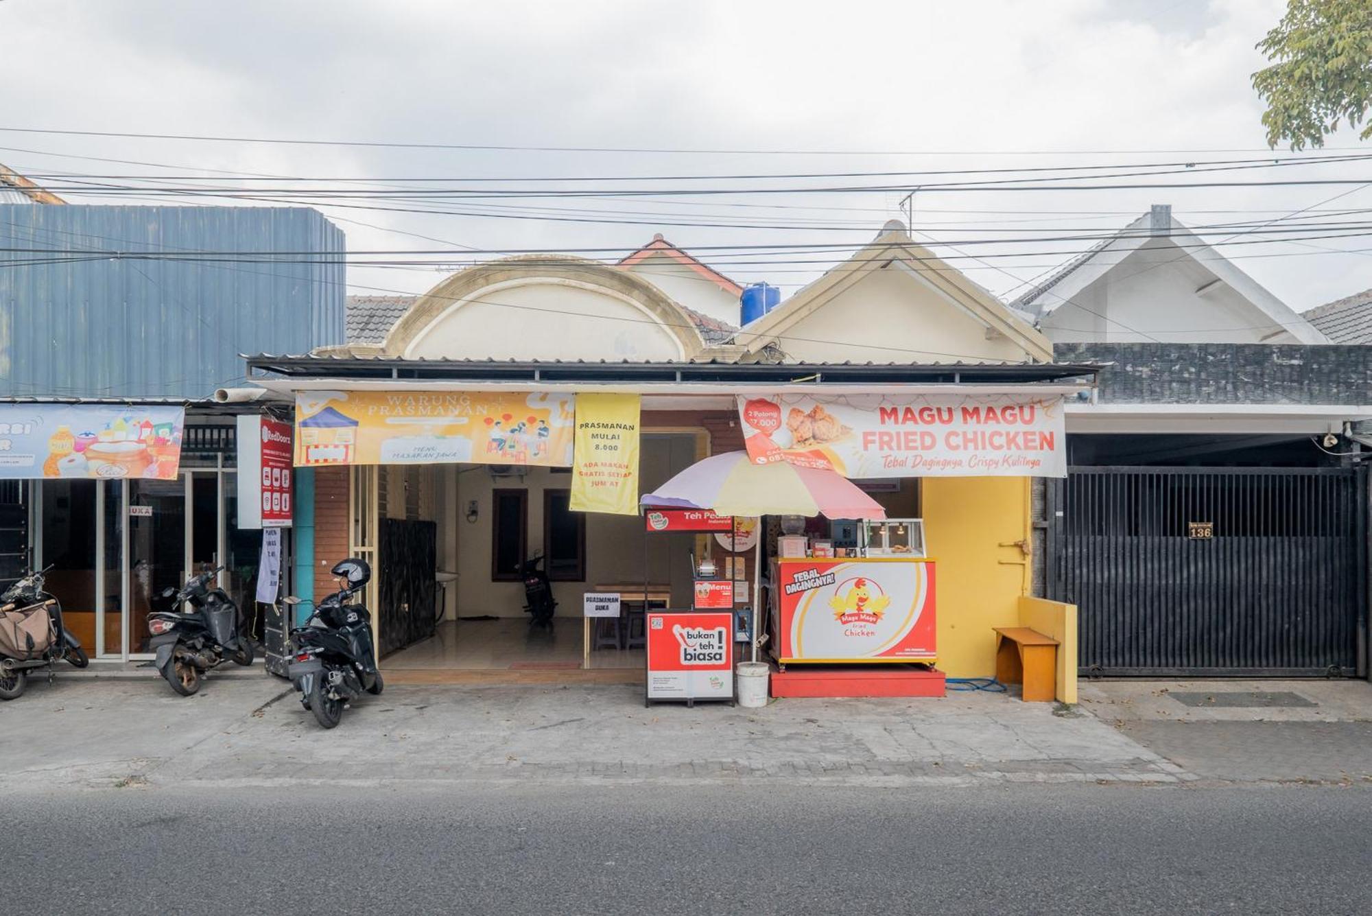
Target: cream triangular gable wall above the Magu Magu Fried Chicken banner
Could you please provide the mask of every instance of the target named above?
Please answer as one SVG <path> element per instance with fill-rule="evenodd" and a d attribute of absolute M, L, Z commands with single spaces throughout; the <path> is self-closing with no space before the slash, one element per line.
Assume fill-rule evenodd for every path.
<path fill-rule="evenodd" d="M 782 306 L 785 309 L 785 303 Z M 1024 359 L 1006 337 L 918 277 L 890 266 L 874 270 L 819 310 L 781 332 L 778 346 L 796 361 L 956 362 Z"/>

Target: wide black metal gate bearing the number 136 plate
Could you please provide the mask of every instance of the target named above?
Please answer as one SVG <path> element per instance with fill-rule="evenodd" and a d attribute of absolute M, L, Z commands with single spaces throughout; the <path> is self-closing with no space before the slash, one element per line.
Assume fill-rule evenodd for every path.
<path fill-rule="evenodd" d="M 1367 469 L 1072 468 L 1048 596 L 1084 675 L 1365 676 Z"/>

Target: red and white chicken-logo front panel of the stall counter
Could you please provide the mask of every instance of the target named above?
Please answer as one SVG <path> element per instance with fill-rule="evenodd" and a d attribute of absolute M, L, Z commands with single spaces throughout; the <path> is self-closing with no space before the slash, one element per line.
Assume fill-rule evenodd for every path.
<path fill-rule="evenodd" d="M 934 660 L 934 564 L 782 559 L 777 564 L 781 662 Z"/>

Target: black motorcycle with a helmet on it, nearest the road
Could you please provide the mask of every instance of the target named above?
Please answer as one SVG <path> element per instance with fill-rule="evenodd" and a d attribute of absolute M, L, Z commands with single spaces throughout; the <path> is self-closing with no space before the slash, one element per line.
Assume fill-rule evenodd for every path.
<path fill-rule="evenodd" d="M 376 668 L 372 616 L 350 599 L 372 580 L 365 559 L 344 559 L 333 568 L 342 588 L 318 603 L 303 627 L 291 629 L 291 664 L 287 676 L 300 691 L 300 705 L 324 728 L 343 719 L 347 703 L 364 691 L 377 695 L 386 687 Z M 298 605 L 299 598 L 287 603 Z"/>

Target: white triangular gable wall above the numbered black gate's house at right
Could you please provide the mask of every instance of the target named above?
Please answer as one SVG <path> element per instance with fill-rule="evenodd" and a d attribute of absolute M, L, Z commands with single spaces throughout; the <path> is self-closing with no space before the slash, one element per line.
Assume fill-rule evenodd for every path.
<path fill-rule="evenodd" d="M 1085 289 L 1052 309 L 1040 330 L 1055 343 L 1295 343 L 1295 337 L 1170 241 L 1129 254 Z"/>

